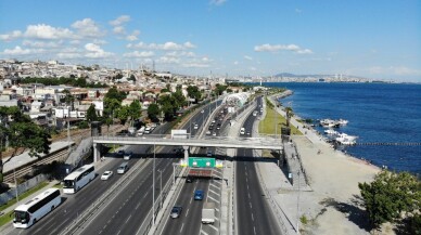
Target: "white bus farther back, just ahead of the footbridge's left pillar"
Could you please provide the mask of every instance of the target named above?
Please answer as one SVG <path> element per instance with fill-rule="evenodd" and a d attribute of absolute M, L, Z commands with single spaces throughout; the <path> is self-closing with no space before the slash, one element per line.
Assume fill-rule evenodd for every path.
<path fill-rule="evenodd" d="M 64 178 L 63 193 L 75 194 L 95 177 L 93 165 L 85 165 Z"/>

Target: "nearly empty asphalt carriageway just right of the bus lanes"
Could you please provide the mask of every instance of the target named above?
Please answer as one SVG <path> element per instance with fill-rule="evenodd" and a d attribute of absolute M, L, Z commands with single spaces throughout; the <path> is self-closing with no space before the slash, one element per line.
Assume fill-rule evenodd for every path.
<path fill-rule="evenodd" d="M 218 102 L 220 104 L 220 102 Z M 192 134 L 194 131 L 193 123 L 199 123 L 206 120 L 215 106 L 204 108 L 204 113 L 199 112 L 192 119 L 184 125 L 184 128 Z M 164 147 L 162 153 L 173 154 L 171 147 Z M 163 185 L 171 179 L 173 162 L 179 160 L 177 158 L 158 158 L 155 165 L 155 200 L 160 195 L 160 172 L 163 171 Z M 145 222 L 145 218 L 152 208 L 152 162 L 138 174 L 135 180 L 124 188 L 117 197 L 102 211 L 100 211 L 95 219 L 87 224 L 87 227 L 81 234 L 136 234 L 141 225 Z"/>

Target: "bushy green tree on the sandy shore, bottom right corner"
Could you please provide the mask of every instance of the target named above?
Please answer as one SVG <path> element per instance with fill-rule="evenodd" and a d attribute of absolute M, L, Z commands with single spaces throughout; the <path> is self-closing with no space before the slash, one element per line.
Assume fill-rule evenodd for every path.
<path fill-rule="evenodd" d="M 421 208 L 421 183 L 408 172 L 382 171 L 370 184 L 359 183 L 371 224 L 400 219 L 401 212 L 413 213 Z"/>

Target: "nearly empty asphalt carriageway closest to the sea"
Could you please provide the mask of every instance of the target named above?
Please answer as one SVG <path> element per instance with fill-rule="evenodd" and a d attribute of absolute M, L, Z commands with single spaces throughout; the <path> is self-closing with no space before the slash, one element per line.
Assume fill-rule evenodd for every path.
<path fill-rule="evenodd" d="M 261 97 L 257 100 L 261 105 Z M 258 108 L 259 109 L 259 108 Z M 244 121 L 245 132 L 253 133 L 253 123 L 257 117 L 250 115 Z M 278 222 L 265 199 L 254 165 L 253 149 L 238 149 L 235 162 L 235 195 L 238 234 L 281 234 Z"/>

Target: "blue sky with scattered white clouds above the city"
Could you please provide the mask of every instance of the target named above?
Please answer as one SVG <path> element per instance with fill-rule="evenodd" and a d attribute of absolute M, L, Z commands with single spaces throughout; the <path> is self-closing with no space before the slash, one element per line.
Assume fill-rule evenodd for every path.
<path fill-rule="evenodd" d="M 421 1 L 1 0 L 0 58 L 421 82 Z"/>

